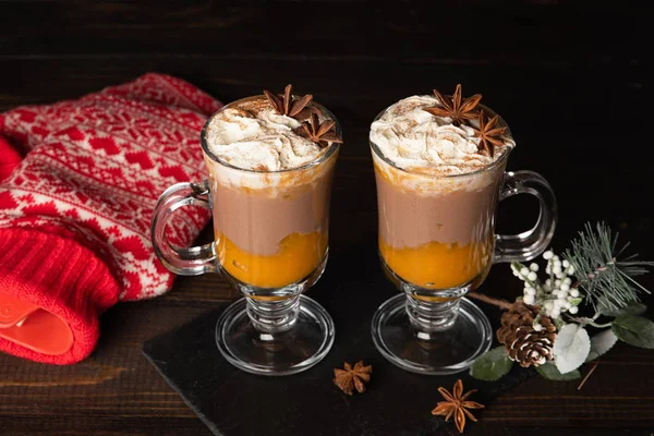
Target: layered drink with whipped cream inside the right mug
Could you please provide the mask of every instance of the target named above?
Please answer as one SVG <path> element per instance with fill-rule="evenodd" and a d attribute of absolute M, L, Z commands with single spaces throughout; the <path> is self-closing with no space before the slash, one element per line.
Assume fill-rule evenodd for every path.
<path fill-rule="evenodd" d="M 493 216 L 514 143 L 506 136 L 492 155 L 480 153 L 479 122 L 457 126 L 424 110 L 437 105 L 432 96 L 398 101 L 372 124 L 370 140 L 382 258 L 402 280 L 445 290 L 481 283 L 491 268 Z"/>

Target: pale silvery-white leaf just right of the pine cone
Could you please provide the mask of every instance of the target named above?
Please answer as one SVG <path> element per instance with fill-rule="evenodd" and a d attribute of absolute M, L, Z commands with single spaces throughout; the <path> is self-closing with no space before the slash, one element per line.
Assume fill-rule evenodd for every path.
<path fill-rule="evenodd" d="M 591 338 L 579 324 L 566 324 L 554 341 L 553 354 L 561 374 L 577 370 L 591 351 Z"/>

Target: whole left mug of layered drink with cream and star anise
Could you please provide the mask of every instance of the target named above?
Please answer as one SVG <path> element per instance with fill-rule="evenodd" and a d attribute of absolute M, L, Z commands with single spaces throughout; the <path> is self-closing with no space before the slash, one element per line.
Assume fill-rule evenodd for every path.
<path fill-rule="evenodd" d="M 177 183 L 153 213 L 153 244 L 177 274 L 220 272 L 245 298 L 216 323 L 216 344 L 234 366 L 287 375 L 318 363 L 334 320 L 303 292 L 325 270 L 329 197 L 341 141 L 338 121 L 312 95 L 264 95 L 231 102 L 205 123 L 208 179 Z M 215 241 L 172 246 L 167 222 L 183 206 L 211 209 Z"/>

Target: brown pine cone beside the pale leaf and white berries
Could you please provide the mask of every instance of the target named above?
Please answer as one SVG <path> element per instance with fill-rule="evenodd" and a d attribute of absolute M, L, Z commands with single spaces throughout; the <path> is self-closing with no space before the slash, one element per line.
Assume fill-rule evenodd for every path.
<path fill-rule="evenodd" d="M 497 330 L 497 339 L 507 348 L 509 358 L 524 367 L 552 360 L 556 326 L 549 317 L 541 315 L 541 329 L 536 331 L 533 324 L 540 312 L 540 306 L 517 302 L 501 315 L 501 327 Z"/>

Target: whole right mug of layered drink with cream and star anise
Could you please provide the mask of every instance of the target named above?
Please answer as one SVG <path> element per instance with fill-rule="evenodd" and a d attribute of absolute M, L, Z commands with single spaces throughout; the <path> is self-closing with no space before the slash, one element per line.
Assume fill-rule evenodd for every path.
<path fill-rule="evenodd" d="M 484 313 L 463 296 L 491 266 L 542 253 L 556 226 L 549 184 L 531 171 L 505 172 L 514 147 L 505 121 L 463 99 L 413 96 L 384 110 L 371 128 L 377 181 L 379 255 L 402 291 L 373 315 L 377 350 L 420 374 L 467 370 L 491 347 Z M 534 195 L 536 225 L 520 234 L 495 234 L 500 199 Z"/>

